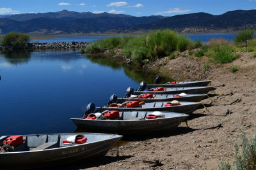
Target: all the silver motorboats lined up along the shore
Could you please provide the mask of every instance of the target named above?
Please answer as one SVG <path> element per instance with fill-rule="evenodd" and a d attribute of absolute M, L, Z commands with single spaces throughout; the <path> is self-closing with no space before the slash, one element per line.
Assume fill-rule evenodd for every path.
<path fill-rule="evenodd" d="M 174 131 L 200 106 L 211 81 L 182 81 L 147 85 L 138 90 L 129 87 L 125 96 L 110 97 L 108 104 L 88 104 L 81 118 L 70 118 L 79 128 L 92 132 L 70 134 L 36 134 L 0 137 L 1 167 L 42 167 L 79 159 L 106 155 L 122 138 L 118 134 L 143 134 Z M 95 108 L 97 111 L 95 111 Z M 117 133 L 117 134 L 116 134 Z"/>

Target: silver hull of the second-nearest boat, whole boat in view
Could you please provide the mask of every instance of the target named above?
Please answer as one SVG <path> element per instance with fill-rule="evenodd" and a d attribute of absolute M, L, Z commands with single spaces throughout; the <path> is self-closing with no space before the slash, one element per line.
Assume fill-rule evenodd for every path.
<path fill-rule="evenodd" d="M 120 113 L 132 115 L 134 118 L 140 117 L 138 115 L 143 115 L 145 111 L 124 111 Z M 148 111 L 147 114 L 152 113 Z M 86 120 L 82 118 L 70 118 L 74 124 L 79 128 L 87 129 L 90 131 L 100 131 L 100 132 L 111 132 L 118 134 L 144 134 L 160 131 L 174 131 L 180 122 L 183 122 L 188 115 L 180 113 L 164 113 L 166 115 L 164 118 L 156 119 L 143 119 L 143 120 Z M 128 116 L 129 117 L 129 116 Z M 145 117 L 144 115 L 142 117 Z"/>

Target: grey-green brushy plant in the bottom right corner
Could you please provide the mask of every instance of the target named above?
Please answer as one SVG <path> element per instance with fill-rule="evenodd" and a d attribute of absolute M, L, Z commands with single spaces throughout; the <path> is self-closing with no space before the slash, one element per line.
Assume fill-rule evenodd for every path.
<path fill-rule="evenodd" d="M 221 160 L 219 165 L 220 170 L 253 170 L 256 169 L 256 135 L 250 141 L 246 138 L 244 132 L 242 132 L 242 145 L 241 153 L 239 154 L 239 146 L 237 143 L 234 145 L 235 148 L 235 162 L 231 166 L 229 162 Z"/>

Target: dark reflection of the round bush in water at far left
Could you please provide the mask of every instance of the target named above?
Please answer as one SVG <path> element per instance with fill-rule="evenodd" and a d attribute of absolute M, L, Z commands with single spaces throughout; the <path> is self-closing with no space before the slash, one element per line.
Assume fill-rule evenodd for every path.
<path fill-rule="evenodd" d="M 28 51 L 1 52 L 0 56 L 4 57 L 12 65 L 28 62 L 31 58 L 31 54 Z"/>

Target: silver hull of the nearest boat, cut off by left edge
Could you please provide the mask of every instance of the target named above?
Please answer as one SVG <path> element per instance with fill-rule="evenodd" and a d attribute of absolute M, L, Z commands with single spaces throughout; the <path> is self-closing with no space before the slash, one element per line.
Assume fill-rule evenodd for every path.
<path fill-rule="evenodd" d="M 106 155 L 106 153 L 108 153 L 108 150 L 119 139 L 122 138 L 122 136 L 113 136 L 113 134 L 82 134 L 84 134 L 84 136 L 88 138 L 88 140 L 86 141 L 86 143 L 80 145 L 63 146 L 60 148 L 51 148 L 45 150 L 28 150 L 23 152 L 0 153 L 1 167 L 42 167 L 52 164 L 63 164 L 66 162 L 72 162 L 81 159 L 92 159 L 94 157 L 101 157 Z M 51 136 L 56 134 L 45 135 Z M 69 134 L 60 135 L 67 136 Z M 60 142 L 62 142 L 63 139 L 64 137 L 60 137 Z"/>

